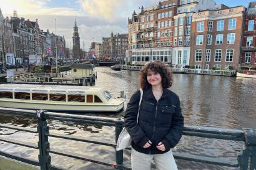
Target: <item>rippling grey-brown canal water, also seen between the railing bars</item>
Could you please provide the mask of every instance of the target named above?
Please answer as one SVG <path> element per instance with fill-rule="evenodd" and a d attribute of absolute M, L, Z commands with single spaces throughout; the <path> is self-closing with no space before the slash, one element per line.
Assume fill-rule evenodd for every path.
<path fill-rule="evenodd" d="M 96 87 L 106 88 L 113 97 L 119 97 L 120 91 L 126 94 L 126 103 L 132 93 L 138 89 L 135 71 L 114 71 L 109 67 L 96 67 Z M 256 80 L 238 77 L 219 77 L 210 75 L 174 74 L 174 83 L 170 90 L 180 97 L 180 105 L 185 117 L 185 125 L 212 126 L 230 129 L 256 128 Z M 92 114 L 91 114 L 92 115 Z M 116 115 L 95 114 L 96 116 L 122 117 L 123 112 Z M 19 116 L 0 116 L 0 123 L 36 128 L 37 120 Z M 49 121 L 52 133 L 60 133 L 86 138 L 97 138 L 114 141 L 114 128 L 101 125 L 87 125 L 61 121 Z M 5 138 L 18 139 L 29 143 L 37 143 L 37 136 L 21 133 L 15 130 L 0 129 L 0 135 Z M 87 144 L 66 139 L 50 138 L 51 148 L 71 153 L 89 155 L 98 159 L 115 161 L 114 148 Z M 204 139 L 183 136 L 173 152 L 210 156 L 220 159 L 235 159 L 242 149 L 241 142 L 220 139 Z M 0 141 L 1 151 L 22 156 L 23 158 L 37 158 L 38 151 L 27 149 L 14 144 Z M 124 163 L 130 163 L 129 151 L 124 151 Z M 77 161 L 51 154 L 52 164 L 66 169 L 112 169 L 99 164 Z M 239 169 L 212 166 L 209 164 L 191 163 L 177 160 L 180 170 L 198 169 Z"/>

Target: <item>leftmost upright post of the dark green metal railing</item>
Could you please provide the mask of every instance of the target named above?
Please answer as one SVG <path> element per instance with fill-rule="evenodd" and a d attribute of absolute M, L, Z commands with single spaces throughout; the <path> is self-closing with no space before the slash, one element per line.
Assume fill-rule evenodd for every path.
<path fill-rule="evenodd" d="M 44 110 L 36 111 L 38 124 L 37 131 L 39 136 L 38 146 L 39 146 L 39 164 L 41 170 L 48 170 L 51 164 L 51 156 L 49 156 L 50 143 L 48 141 L 49 127 L 47 126 L 47 121 L 45 117 Z"/>

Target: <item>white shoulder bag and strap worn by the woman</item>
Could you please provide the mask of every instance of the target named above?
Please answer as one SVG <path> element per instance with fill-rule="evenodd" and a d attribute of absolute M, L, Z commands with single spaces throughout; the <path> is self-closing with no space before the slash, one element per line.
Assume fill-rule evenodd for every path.
<path fill-rule="evenodd" d="M 137 114 L 137 123 L 139 119 L 140 103 L 142 100 L 142 96 L 143 96 L 143 90 L 140 88 L 140 101 L 139 101 L 139 110 Z M 130 144 L 132 144 L 132 138 L 130 138 L 128 131 L 126 130 L 126 128 L 124 128 L 117 139 L 116 150 L 121 151 L 122 149 L 126 149 L 127 147 L 130 146 Z"/>

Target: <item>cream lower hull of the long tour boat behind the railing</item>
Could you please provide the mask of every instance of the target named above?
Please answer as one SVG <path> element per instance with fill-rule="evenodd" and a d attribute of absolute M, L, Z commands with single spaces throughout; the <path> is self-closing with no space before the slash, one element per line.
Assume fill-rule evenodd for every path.
<path fill-rule="evenodd" d="M 0 106 L 6 108 L 20 108 L 28 110 L 49 110 L 63 112 L 119 112 L 124 108 L 124 103 L 119 105 L 86 105 L 81 103 L 61 102 L 34 102 L 22 100 L 0 100 Z"/>

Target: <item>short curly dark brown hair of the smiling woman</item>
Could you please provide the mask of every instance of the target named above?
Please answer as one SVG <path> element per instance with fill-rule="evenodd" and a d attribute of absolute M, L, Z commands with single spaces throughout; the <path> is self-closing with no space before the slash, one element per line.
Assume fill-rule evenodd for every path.
<path fill-rule="evenodd" d="M 169 88 L 172 86 L 172 72 L 170 68 L 159 60 L 154 60 L 144 65 L 139 73 L 139 88 L 145 89 L 151 87 L 149 82 L 147 82 L 147 73 L 149 70 L 160 73 L 162 77 L 162 87 Z"/>

